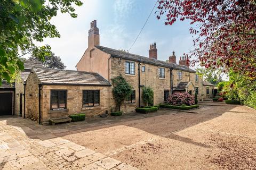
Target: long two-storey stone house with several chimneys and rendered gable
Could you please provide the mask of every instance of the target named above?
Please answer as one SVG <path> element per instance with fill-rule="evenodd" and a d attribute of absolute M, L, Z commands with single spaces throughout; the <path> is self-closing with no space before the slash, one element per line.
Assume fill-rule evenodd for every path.
<path fill-rule="evenodd" d="M 134 111 L 143 106 L 142 87 L 154 90 L 154 105 L 163 103 L 173 92 L 187 91 L 191 95 L 203 94 L 203 79 L 189 68 L 188 58 L 180 57 L 176 64 L 173 52 L 169 62 L 157 60 L 156 43 L 149 46 L 149 56 L 140 56 L 108 47 L 100 46 L 97 21 L 91 22 L 88 48 L 77 63 L 78 71 L 96 72 L 111 83 L 111 79 L 121 74 L 133 87 L 133 93 L 121 106 L 124 112 Z M 111 95 L 111 106 L 115 102 Z"/>

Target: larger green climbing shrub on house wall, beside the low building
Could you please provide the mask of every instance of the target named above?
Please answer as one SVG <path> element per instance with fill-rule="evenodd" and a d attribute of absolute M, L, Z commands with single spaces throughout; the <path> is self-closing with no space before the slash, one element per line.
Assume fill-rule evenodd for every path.
<path fill-rule="evenodd" d="M 119 75 L 112 80 L 113 88 L 113 96 L 116 102 L 116 109 L 120 111 L 120 107 L 124 102 L 125 98 L 132 94 L 132 87 L 127 81 Z"/>

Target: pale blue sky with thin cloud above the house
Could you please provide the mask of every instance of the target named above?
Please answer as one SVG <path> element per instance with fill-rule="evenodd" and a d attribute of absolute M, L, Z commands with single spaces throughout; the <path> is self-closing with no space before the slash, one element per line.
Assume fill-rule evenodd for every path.
<path fill-rule="evenodd" d="M 51 22 L 60 31 L 61 38 L 47 38 L 44 44 L 52 46 L 55 55 L 60 56 L 67 69 L 76 70 L 75 65 L 87 48 L 90 22 L 97 20 L 100 29 L 100 45 L 129 49 L 147 19 L 156 0 L 86 0 L 76 7 L 77 18 L 59 13 Z M 172 51 L 178 58 L 192 48 L 188 21 L 172 26 L 164 24 L 164 18 L 156 19 L 155 11 L 150 16 L 130 53 L 148 56 L 149 45 L 156 42 L 158 60 L 167 60 Z"/>

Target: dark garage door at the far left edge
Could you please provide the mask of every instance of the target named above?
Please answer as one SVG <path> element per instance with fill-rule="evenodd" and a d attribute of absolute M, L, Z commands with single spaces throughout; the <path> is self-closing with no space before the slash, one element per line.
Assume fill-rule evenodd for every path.
<path fill-rule="evenodd" d="M 0 93 L 0 115 L 12 114 L 12 93 Z"/>

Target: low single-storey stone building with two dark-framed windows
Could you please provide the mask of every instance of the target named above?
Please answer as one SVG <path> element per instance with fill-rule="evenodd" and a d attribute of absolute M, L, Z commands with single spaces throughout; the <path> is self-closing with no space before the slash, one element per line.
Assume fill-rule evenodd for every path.
<path fill-rule="evenodd" d="M 26 117 L 39 123 L 110 112 L 111 84 L 98 73 L 33 67 L 26 82 Z"/>

